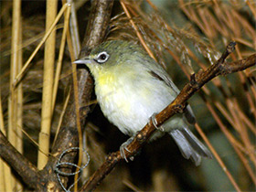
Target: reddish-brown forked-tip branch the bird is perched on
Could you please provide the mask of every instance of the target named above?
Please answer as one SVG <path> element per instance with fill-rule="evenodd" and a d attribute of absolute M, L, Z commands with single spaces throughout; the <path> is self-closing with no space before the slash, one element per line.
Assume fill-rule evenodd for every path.
<path fill-rule="evenodd" d="M 214 79 L 219 75 L 225 75 L 232 72 L 240 71 L 243 69 L 250 68 L 256 64 L 256 54 L 251 55 L 247 59 L 241 59 L 235 62 L 225 62 L 225 59 L 234 50 L 236 43 L 231 42 L 222 54 L 221 58 L 216 64 L 210 66 L 207 70 L 199 70 L 197 74 L 191 76 L 191 80 L 177 95 L 176 100 L 172 101 L 165 110 L 155 115 L 156 125 L 160 126 L 167 119 L 172 117 L 186 107 L 187 100 L 192 97 L 202 86 L 204 86 L 209 80 Z M 133 142 L 127 146 L 130 152 L 125 151 L 127 158 L 131 158 L 136 155 L 139 149 L 145 144 L 150 138 L 152 133 L 155 132 L 155 126 L 152 121 L 144 126 L 144 129 L 136 134 Z M 81 191 L 92 191 L 97 185 L 101 183 L 103 178 L 107 176 L 112 168 L 117 165 L 123 158 L 120 155 L 120 151 L 112 153 L 101 165 L 101 167 L 91 176 L 88 182 L 82 187 Z"/>

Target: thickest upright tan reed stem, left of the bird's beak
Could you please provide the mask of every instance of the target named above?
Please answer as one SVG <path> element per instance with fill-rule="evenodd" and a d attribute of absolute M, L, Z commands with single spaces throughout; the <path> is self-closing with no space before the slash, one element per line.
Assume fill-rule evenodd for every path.
<path fill-rule="evenodd" d="M 46 31 L 50 28 L 57 15 L 57 0 L 47 1 Z M 41 132 L 39 133 L 39 151 L 37 157 L 37 168 L 42 169 L 48 162 L 49 136 L 52 116 L 52 91 L 55 59 L 55 37 L 56 31 L 52 31 L 45 46 L 44 58 L 44 82 L 43 101 L 41 113 Z"/>

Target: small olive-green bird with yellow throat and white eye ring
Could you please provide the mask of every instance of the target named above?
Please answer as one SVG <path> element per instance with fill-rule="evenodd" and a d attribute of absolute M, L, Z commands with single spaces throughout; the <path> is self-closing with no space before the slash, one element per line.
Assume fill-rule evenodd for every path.
<path fill-rule="evenodd" d="M 179 93 L 173 80 L 141 46 L 124 40 L 109 40 L 91 50 L 89 56 L 74 61 L 90 69 L 95 94 L 104 116 L 122 133 L 131 136 L 120 147 L 124 150 L 144 125 L 175 100 Z M 175 140 L 181 154 L 200 165 L 201 157 L 212 158 L 208 148 L 190 131 L 196 123 L 190 105 L 183 113 L 168 119 L 157 129 L 150 141 L 165 133 Z"/>

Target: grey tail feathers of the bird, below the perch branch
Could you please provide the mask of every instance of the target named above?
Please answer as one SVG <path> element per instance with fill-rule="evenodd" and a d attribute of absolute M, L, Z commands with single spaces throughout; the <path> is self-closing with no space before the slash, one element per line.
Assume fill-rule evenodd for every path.
<path fill-rule="evenodd" d="M 190 158 L 195 165 L 200 165 L 201 156 L 212 158 L 208 148 L 187 127 L 172 130 L 170 135 L 175 139 L 181 154 Z"/>

